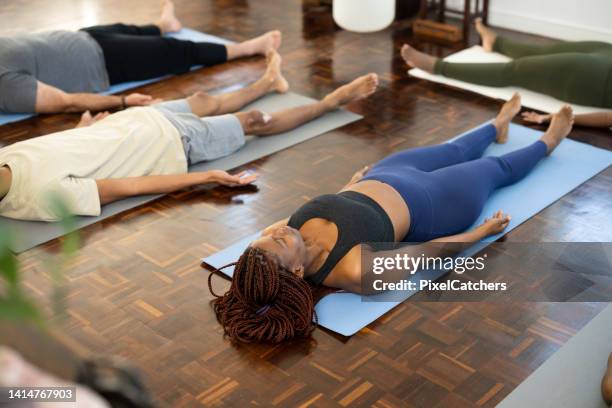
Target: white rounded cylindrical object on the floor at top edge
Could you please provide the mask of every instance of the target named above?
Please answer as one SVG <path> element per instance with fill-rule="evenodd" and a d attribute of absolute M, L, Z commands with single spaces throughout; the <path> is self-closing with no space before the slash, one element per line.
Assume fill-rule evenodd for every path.
<path fill-rule="evenodd" d="M 333 14 L 336 24 L 345 30 L 380 31 L 395 18 L 395 0 L 334 0 Z"/>

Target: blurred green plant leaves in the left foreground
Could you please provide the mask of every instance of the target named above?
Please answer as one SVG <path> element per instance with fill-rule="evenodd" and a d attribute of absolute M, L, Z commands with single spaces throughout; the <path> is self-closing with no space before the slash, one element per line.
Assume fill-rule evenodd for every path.
<path fill-rule="evenodd" d="M 62 315 L 65 308 L 66 285 L 63 271 L 80 247 L 76 232 L 76 220 L 64 201 L 56 195 L 49 195 L 53 211 L 60 218 L 60 225 L 66 232 L 61 241 L 60 253 L 47 259 L 44 264 L 49 271 L 53 288 L 51 304 L 56 315 Z M 0 319 L 15 323 L 34 323 L 45 325 L 45 318 L 36 302 L 23 290 L 20 264 L 11 251 L 14 233 L 6 224 L 0 223 Z"/>

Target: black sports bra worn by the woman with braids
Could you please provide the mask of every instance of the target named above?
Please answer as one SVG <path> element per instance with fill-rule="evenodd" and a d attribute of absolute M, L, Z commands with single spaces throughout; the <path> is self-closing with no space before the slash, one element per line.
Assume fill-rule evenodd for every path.
<path fill-rule="evenodd" d="M 366 242 L 394 242 L 391 219 L 380 205 L 370 197 L 356 191 L 325 194 L 301 206 L 289 218 L 288 226 L 300 229 L 308 220 L 322 218 L 338 228 L 336 245 L 321 268 L 307 280 L 321 284 L 334 266 L 355 245 Z"/>

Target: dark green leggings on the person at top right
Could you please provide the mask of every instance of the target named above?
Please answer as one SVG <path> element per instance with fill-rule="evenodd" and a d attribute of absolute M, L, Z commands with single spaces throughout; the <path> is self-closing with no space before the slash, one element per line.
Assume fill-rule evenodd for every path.
<path fill-rule="evenodd" d="M 439 59 L 434 73 L 487 86 L 519 86 L 579 105 L 612 108 L 612 44 L 524 44 L 498 36 L 493 50 L 513 61 L 464 64 Z"/>

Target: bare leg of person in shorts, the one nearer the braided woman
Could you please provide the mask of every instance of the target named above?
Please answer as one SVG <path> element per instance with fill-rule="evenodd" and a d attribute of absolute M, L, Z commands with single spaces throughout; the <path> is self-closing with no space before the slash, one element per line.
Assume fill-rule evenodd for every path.
<path fill-rule="evenodd" d="M 240 112 L 236 117 L 247 134 L 266 136 L 286 132 L 314 120 L 343 105 L 368 97 L 378 86 L 378 76 L 368 74 L 341 86 L 323 100 L 297 108 L 274 112 L 270 115 L 259 111 Z"/>

